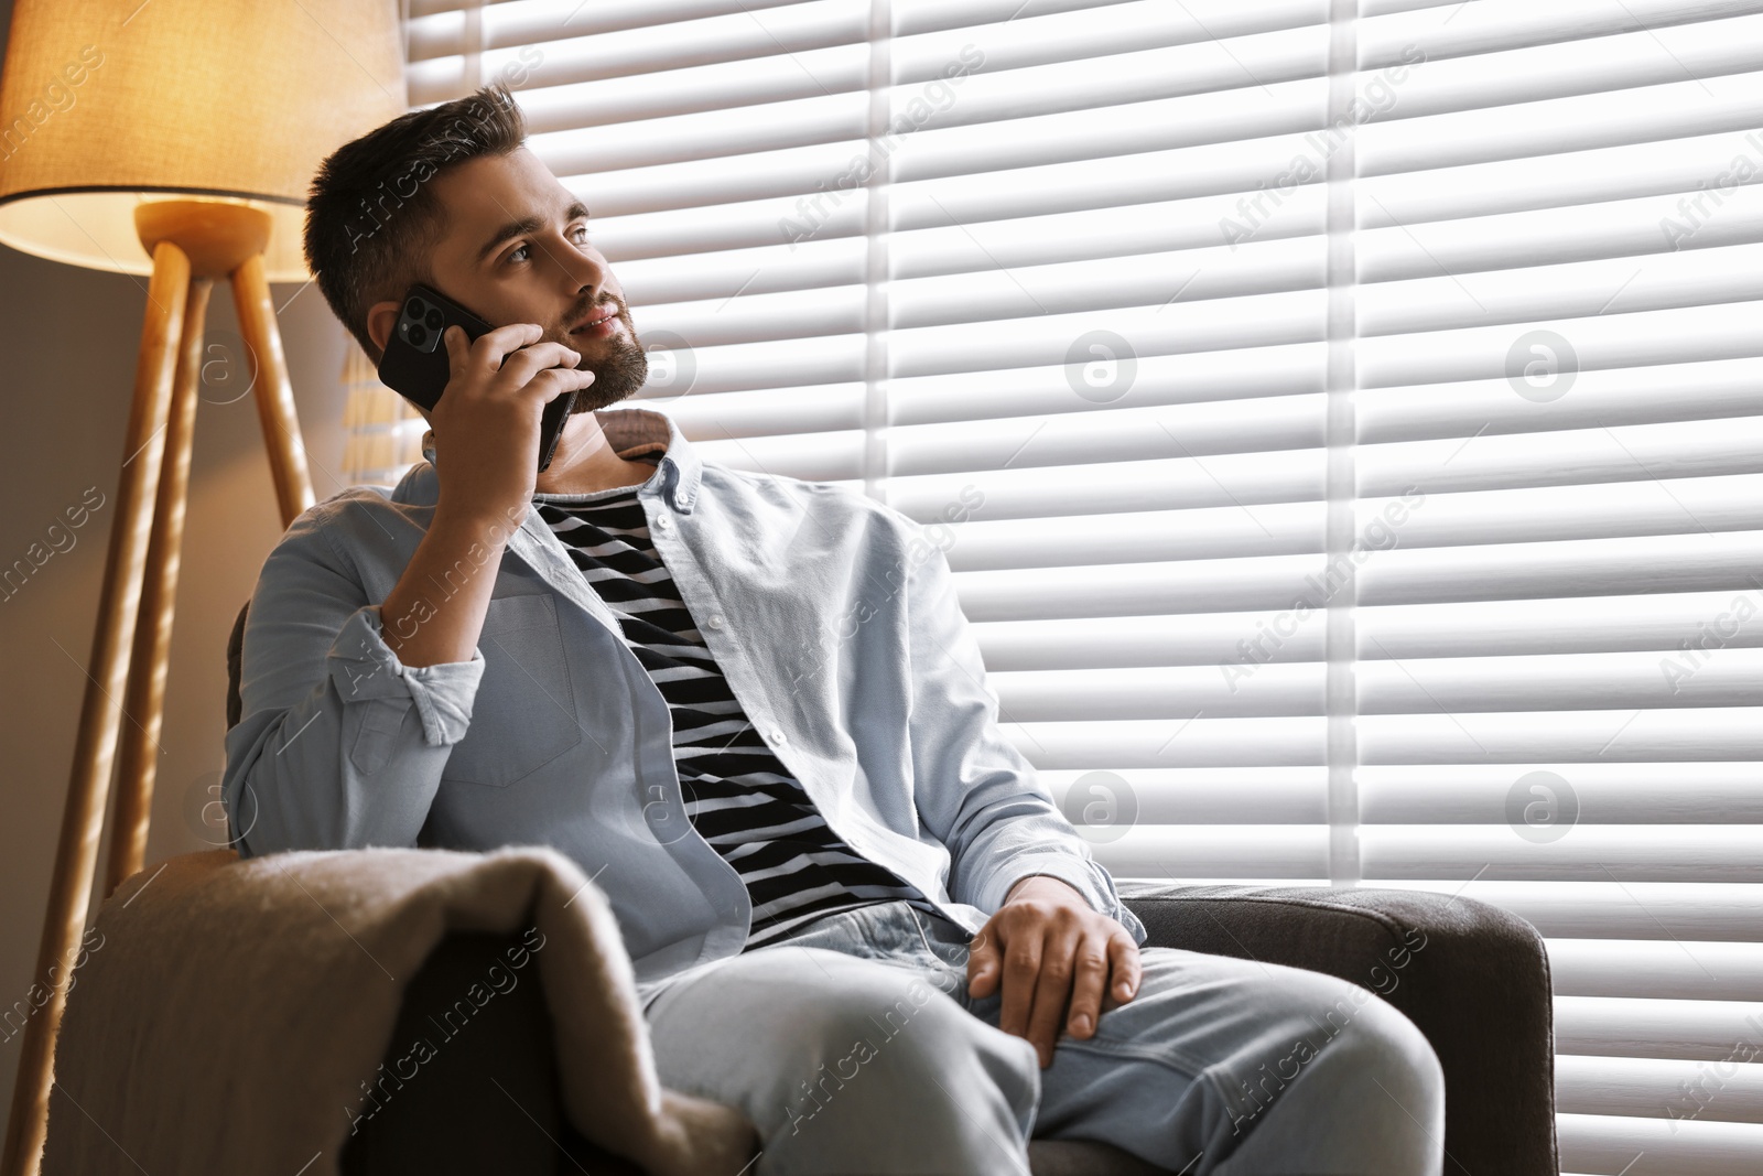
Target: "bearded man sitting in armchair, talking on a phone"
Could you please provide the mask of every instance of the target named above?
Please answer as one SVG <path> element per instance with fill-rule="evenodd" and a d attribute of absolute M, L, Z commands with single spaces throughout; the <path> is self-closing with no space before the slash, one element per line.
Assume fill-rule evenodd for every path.
<path fill-rule="evenodd" d="M 647 363 L 587 208 L 487 88 L 326 160 L 307 257 L 370 356 L 446 339 L 425 462 L 264 562 L 242 853 L 550 845 L 606 894 L 663 1083 L 785 1172 L 1024 1172 L 1030 1134 L 1224 1176 L 1440 1171 L 1437 1058 L 1368 991 L 1148 947 L 998 730 L 929 529 L 608 411 Z M 543 406 L 578 391 L 536 474 Z"/>

